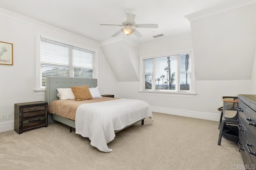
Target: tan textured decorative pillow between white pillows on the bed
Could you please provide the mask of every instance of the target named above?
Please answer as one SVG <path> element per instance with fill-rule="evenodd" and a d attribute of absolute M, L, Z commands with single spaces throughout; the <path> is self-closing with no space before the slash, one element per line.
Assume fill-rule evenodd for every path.
<path fill-rule="evenodd" d="M 92 99 L 92 95 L 88 86 L 71 86 L 72 92 L 76 98 L 76 101 Z"/>

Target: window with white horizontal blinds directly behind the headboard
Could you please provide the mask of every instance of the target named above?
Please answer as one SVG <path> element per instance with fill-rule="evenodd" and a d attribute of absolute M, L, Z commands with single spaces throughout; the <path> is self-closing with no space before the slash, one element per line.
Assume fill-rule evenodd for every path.
<path fill-rule="evenodd" d="M 41 88 L 46 76 L 95 78 L 95 52 L 41 38 Z"/>

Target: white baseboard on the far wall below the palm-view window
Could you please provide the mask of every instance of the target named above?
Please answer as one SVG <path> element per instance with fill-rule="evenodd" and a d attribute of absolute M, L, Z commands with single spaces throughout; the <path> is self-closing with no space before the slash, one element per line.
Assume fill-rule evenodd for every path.
<path fill-rule="evenodd" d="M 200 112 L 200 111 L 172 109 L 172 108 L 156 107 L 156 106 L 150 106 L 150 108 L 151 108 L 151 111 L 158 112 L 158 113 L 166 113 L 170 115 L 179 115 L 179 116 L 193 117 L 193 118 L 206 119 L 206 120 L 212 120 L 212 121 L 220 120 L 220 114 L 218 113 L 207 113 L 207 112 Z"/>

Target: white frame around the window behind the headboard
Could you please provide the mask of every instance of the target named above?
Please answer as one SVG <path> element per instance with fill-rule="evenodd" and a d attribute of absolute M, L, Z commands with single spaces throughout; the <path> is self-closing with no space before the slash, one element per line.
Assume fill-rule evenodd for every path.
<path fill-rule="evenodd" d="M 77 39 L 75 37 L 72 37 L 70 39 L 69 36 L 63 36 L 60 35 L 59 37 L 55 37 L 52 35 L 48 35 L 46 33 L 38 32 L 36 31 L 36 59 L 35 59 L 35 89 L 34 91 L 37 93 L 37 95 L 44 95 L 45 94 L 45 88 L 41 88 L 41 38 L 49 39 L 52 41 L 56 41 L 59 43 L 64 43 L 67 45 L 71 45 L 74 47 L 82 48 L 88 51 L 94 52 L 95 57 L 95 78 L 98 78 L 98 49 L 94 49 L 82 44 L 78 44 L 75 42 L 81 41 L 81 39 Z M 67 40 L 68 39 L 68 40 Z"/>

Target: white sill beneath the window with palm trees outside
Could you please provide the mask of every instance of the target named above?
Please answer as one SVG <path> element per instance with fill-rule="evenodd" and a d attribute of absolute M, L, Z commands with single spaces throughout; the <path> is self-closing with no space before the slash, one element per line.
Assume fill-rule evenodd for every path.
<path fill-rule="evenodd" d="M 139 91 L 142 95 L 154 95 L 154 96 L 173 96 L 173 97 L 184 97 L 184 98 L 195 98 L 196 93 L 186 92 L 156 92 L 156 91 Z"/>

